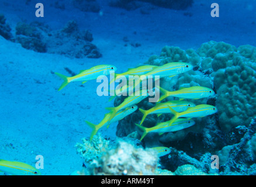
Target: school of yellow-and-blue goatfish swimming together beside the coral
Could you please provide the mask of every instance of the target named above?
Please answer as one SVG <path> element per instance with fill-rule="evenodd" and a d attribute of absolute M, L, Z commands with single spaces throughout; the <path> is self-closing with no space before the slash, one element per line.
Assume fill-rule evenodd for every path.
<path fill-rule="evenodd" d="M 174 77 L 184 72 L 191 71 L 192 69 L 193 66 L 191 64 L 182 62 L 167 63 L 161 66 L 141 65 L 136 68 L 129 68 L 126 72 L 115 74 L 115 78 L 111 79 L 109 84 L 112 84 L 114 81 L 118 82 L 117 80 L 122 79 L 123 77 L 128 78 L 130 75 L 138 75 L 140 77 L 140 81 L 142 82 L 143 79 L 147 79 L 149 76 L 154 77 L 158 75 L 159 78 Z M 67 77 L 56 72 L 56 75 L 64 79 L 63 84 L 58 90 L 60 91 L 63 89 L 64 86 L 66 86 L 69 82 L 82 81 L 84 84 L 85 82 L 96 79 L 99 76 L 109 75 L 111 70 L 116 71 L 117 68 L 114 65 L 96 65 L 88 70 L 80 71 L 79 74 L 75 75 L 74 77 Z M 136 85 L 133 85 L 132 91 L 135 86 Z M 127 92 L 129 85 L 124 85 L 123 88 L 124 89 L 122 89 L 122 92 L 119 92 L 118 94 L 116 93 L 115 96 L 111 96 L 109 101 L 116 96 L 120 96 L 122 93 Z M 136 124 L 136 126 L 143 131 L 140 140 L 143 140 L 148 133 L 159 133 L 161 135 L 163 133 L 191 127 L 193 124 L 195 124 L 195 121 L 192 120 L 193 117 L 204 117 L 217 112 L 216 107 L 212 105 L 203 104 L 196 106 L 192 102 L 182 101 L 184 99 L 201 99 L 215 95 L 215 92 L 210 88 L 203 86 L 192 86 L 190 88 L 180 88 L 177 91 L 167 91 L 159 86 L 158 88 L 154 89 L 159 89 L 162 95 L 153 108 L 149 110 L 139 109 L 140 112 L 143 113 L 143 118 L 141 119 L 140 124 Z M 86 123 L 92 128 L 90 140 L 92 140 L 94 135 L 103 126 L 108 128 L 111 123 L 117 122 L 136 111 L 136 104 L 149 96 L 147 89 L 139 89 L 134 93 L 134 95 L 127 96 L 127 98 L 124 99 L 120 105 L 112 108 L 106 108 L 109 110 L 109 113 L 105 114 L 100 123 L 94 124 L 86 121 Z M 179 100 L 161 102 L 163 99 L 168 98 L 169 96 L 176 97 Z M 164 123 L 157 123 L 154 127 L 150 128 L 141 126 L 147 115 L 157 114 L 158 117 L 163 113 L 171 113 L 173 115 L 172 119 Z M 158 153 L 169 153 L 168 151 L 162 151 L 169 150 L 167 147 L 157 147 L 154 149 L 157 150 Z M 160 156 L 162 155 L 165 154 L 160 154 Z"/>

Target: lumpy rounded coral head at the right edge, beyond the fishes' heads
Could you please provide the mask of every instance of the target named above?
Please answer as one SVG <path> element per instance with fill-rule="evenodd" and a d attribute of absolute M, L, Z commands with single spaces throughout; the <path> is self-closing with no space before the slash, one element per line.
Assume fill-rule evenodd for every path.
<path fill-rule="evenodd" d="M 240 46 L 237 51 L 216 54 L 212 61 L 216 107 L 224 131 L 241 124 L 247 126 L 256 115 L 255 53 L 255 47 Z"/>

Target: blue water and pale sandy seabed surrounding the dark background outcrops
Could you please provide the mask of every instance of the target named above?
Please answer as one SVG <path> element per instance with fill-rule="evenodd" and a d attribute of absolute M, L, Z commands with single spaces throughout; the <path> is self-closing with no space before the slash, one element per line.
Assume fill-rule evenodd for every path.
<path fill-rule="evenodd" d="M 130 11 L 96 0 L 98 12 L 83 12 L 67 0 L 40 1 L 44 17 L 39 18 L 37 2 L 0 1 L 0 14 L 14 38 L 19 22 L 44 23 L 54 32 L 75 20 L 79 30 L 92 33 L 91 43 L 102 54 L 75 58 L 39 53 L 0 36 L 0 159 L 34 165 L 36 155 L 43 155 L 43 175 L 70 175 L 79 170 L 82 159 L 74 146 L 91 133 L 84 121 L 99 123 L 107 112 L 104 108 L 113 106 L 109 97 L 96 95 L 96 81 L 82 86 L 71 83 L 58 92 L 62 80 L 52 72 L 68 74 L 64 70 L 68 67 L 77 73 L 99 64 L 113 64 L 124 72 L 159 55 L 164 46 L 196 50 L 210 40 L 256 46 L 256 1 L 252 0 L 194 0 L 182 10 L 140 2 L 140 8 Z M 57 2 L 65 8 L 58 8 Z M 210 15 L 213 2 L 219 4 L 218 18 Z M 115 139 L 116 126 L 102 130 L 102 136 Z"/>

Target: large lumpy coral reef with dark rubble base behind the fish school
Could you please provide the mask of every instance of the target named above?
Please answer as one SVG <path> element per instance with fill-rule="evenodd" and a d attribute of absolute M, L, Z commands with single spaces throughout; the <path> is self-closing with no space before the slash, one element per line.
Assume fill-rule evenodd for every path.
<path fill-rule="evenodd" d="M 143 139 L 144 147 L 165 146 L 171 148 L 170 157 L 162 157 L 162 168 L 175 172 L 185 164 L 193 165 L 205 174 L 253 175 L 255 168 L 255 90 L 256 48 L 249 45 L 235 47 L 224 42 L 209 41 L 198 50 L 182 50 L 165 46 L 160 56 L 151 56 L 145 64 L 164 65 L 175 61 L 193 64 L 193 71 L 172 78 L 160 79 L 160 85 L 168 91 L 188 86 L 206 86 L 217 94 L 211 98 L 188 101 L 199 105 L 214 105 L 218 113 L 213 116 L 194 119 L 196 124 L 184 130 L 148 134 Z M 119 105 L 125 97 L 117 97 Z M 164 101 L 172 100 L 166 98 Z M 143 100 L 138 108 L 148 110 L 155 106 Z M 142 113 L 137 111 L 120 120 L 116 135 L 128 136 L 140 130 L 134 126 L 140 123 Z M 148 115 L 143 126 L 153 127 L 156 123 L 169 120 L 171 115 Z M 210 168 L 210 157 L 220 157 L 220 169 Z M 175 173 L 173 173 L 175 175 Z"/>

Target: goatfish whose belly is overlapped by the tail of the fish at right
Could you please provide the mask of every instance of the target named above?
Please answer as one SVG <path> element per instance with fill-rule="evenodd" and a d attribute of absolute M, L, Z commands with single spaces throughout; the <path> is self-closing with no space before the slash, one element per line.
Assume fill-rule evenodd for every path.
<path fill-rule="evenodd" d="M 168 101 L 164 103 L 157 103 L 153 108 L 148 110 L 139 109 L 140 112 L 143 113 L 143 118 L 141 119 L 140 125 L 144 122 L 147 115 L 149 114 L 157 113 L 157 117 L 159 117 L 160 115 L 162 115 L 162 113 L 169 113 L 170 111 L 168 106 L 171 106 L 171 108 L 174 109 L 176 112 L 183 112 L 189 107 L 194 107 L 196 105 L 188 101 Z"/>

